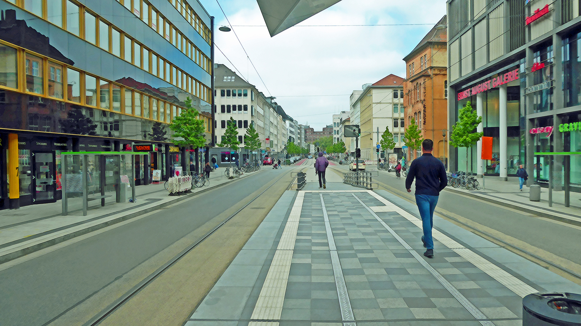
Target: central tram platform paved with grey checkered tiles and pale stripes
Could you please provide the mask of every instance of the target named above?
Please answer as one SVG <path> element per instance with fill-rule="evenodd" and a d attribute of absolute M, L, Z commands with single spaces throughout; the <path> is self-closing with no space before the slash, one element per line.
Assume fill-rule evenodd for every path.
<path fill-rule="evenodd" d="M 331 178 L 282 195 L 185 325 L 512 326 L 525 295 L 581 293 L 437 215 L 426 258 L 414 204 Z"/>

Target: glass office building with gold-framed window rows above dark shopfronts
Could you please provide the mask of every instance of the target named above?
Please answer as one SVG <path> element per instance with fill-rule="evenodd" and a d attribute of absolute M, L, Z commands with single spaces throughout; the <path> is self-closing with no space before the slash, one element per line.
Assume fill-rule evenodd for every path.
<path fill-rule="evenodd" d="M 210 16 L 188 1 L 0 1 L 0 208 L 59 200 L 63 151 L 156 144 L 136 184 L 184 165 L 168 125 L 188 97 L 211 112 L 213 67 Z"/>

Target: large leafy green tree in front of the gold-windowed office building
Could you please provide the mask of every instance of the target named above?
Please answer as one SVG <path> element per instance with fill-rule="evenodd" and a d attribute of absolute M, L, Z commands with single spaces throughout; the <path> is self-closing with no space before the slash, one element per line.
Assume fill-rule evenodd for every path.
<path fill-rule="evenodd" d="M 204 121 L 198 118 L 199 114 L 198 110 L 192 106 L 192 100 L 188 97 L 185 100 L 185 111 L 175 117 L 170 124 L 170 129 L 174 132 L 174 144 L 178 146 L 191 145 L 193 148 L 203 147 L 206 144 L 206 128 Z"/>

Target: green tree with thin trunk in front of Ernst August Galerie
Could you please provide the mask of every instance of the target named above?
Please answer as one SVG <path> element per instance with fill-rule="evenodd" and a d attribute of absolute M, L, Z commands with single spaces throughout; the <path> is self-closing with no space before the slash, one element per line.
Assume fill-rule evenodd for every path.
<path fill-rule="evenodd" d="M 454 147 L 466 147 L 466 172 L 468 172 L 468 147 L 474 146 L 484 133 L 476 132 L 482 117 L 472 110 L 470 101 L 458 110 L 458 121 L 452 126 L 450 144 Z"/>

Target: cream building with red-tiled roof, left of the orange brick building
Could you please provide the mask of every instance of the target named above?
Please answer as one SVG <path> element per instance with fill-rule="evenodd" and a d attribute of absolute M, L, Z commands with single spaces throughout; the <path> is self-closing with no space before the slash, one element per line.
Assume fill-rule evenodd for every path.
<path fill-rule="evenodd" d="M 359 148 L 363 160 L 377 160 L 376 144 L 381 141 L 381 135 L 388 126 L 396 142 L 393 153 L 401 156 L 401 137 L 404 133 L 404 118 L 403 113 L 400 113 L 400 108 L 403 108 L 403 83 L 403 78 L 390 74 L 374 84 L 363 85 L 363 92 L 354 100 L 352 107 L 358 107 L 358 110 L 353 108 L 352 111 L 360 111 Z M 380 153 L 382 157 L 384 153 Z"/>

